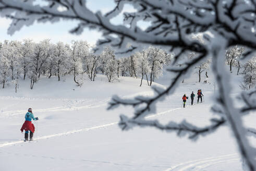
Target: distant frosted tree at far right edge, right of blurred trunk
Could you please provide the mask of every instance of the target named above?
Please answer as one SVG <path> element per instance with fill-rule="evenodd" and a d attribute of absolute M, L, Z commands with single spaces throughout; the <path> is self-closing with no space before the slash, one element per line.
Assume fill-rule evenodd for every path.
<path fill-rule="evenodd" d="M 249 90 L 256 84 L 256 57 L 248 60 L 248 62 L 242 66 L 243 71 L 243 83 L 242 88 Z"/>

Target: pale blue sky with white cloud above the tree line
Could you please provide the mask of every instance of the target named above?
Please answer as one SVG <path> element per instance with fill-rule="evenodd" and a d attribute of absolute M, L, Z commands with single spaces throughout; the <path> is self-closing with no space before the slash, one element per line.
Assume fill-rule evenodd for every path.
<path fill-rule="evenodd" d="M 101 10 L 102 13 L 106 13 L 113 9 L 114 1 L 113 0 L 88 0 L 87 6 L 93 10 Z M 124 11 L 136 11 L 132 6 L 126 5 Z M 80 35 L 70 34 L 68 31 L 76 27 L 77 21 L 60 21 L 54 24 L 50 22 L 46 23 L 34 23 L 32 26 L 22 27 L 20 31 L 14 33 L 10 36 L 7 34 L 7 29 L 10 24 L 10 20 L 0 17 L 0 42 L 4 40 L 18 40 L 22 39 L 32 39 L 35 42 L 39 42 L 43 39 L 51 39 L 51 42 L 56 43 L 62 41 L 64 43 L 70 43 L 71 40 L 86 40 L 91 44 L 95 44 L 97 39 L 101 38 L 101 33 L 95 30 L 84 29 L 83 33 Z M 112 20 L 113 23 L 123 23 L 122 15 L 115 17 Z"/>

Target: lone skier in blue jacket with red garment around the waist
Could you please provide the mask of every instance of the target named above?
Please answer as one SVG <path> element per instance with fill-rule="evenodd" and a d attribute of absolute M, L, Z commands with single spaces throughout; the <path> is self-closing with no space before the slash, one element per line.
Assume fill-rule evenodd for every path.
<path fill-rule="evenodd" d="M 25 141 L 32 141 L 33 140 L 33 134 L 34 134 L 34 124 L 32 124 L 31 120 L 38 120 L 38 117 L 34 117 L 32 113 L 32 108 L 28 109 L 28 112 L 25 115 L 25 122 L 21 127 L 21 132 L 25 130 Z M 30 134 L 29 134 L 30 131 Z"/>

